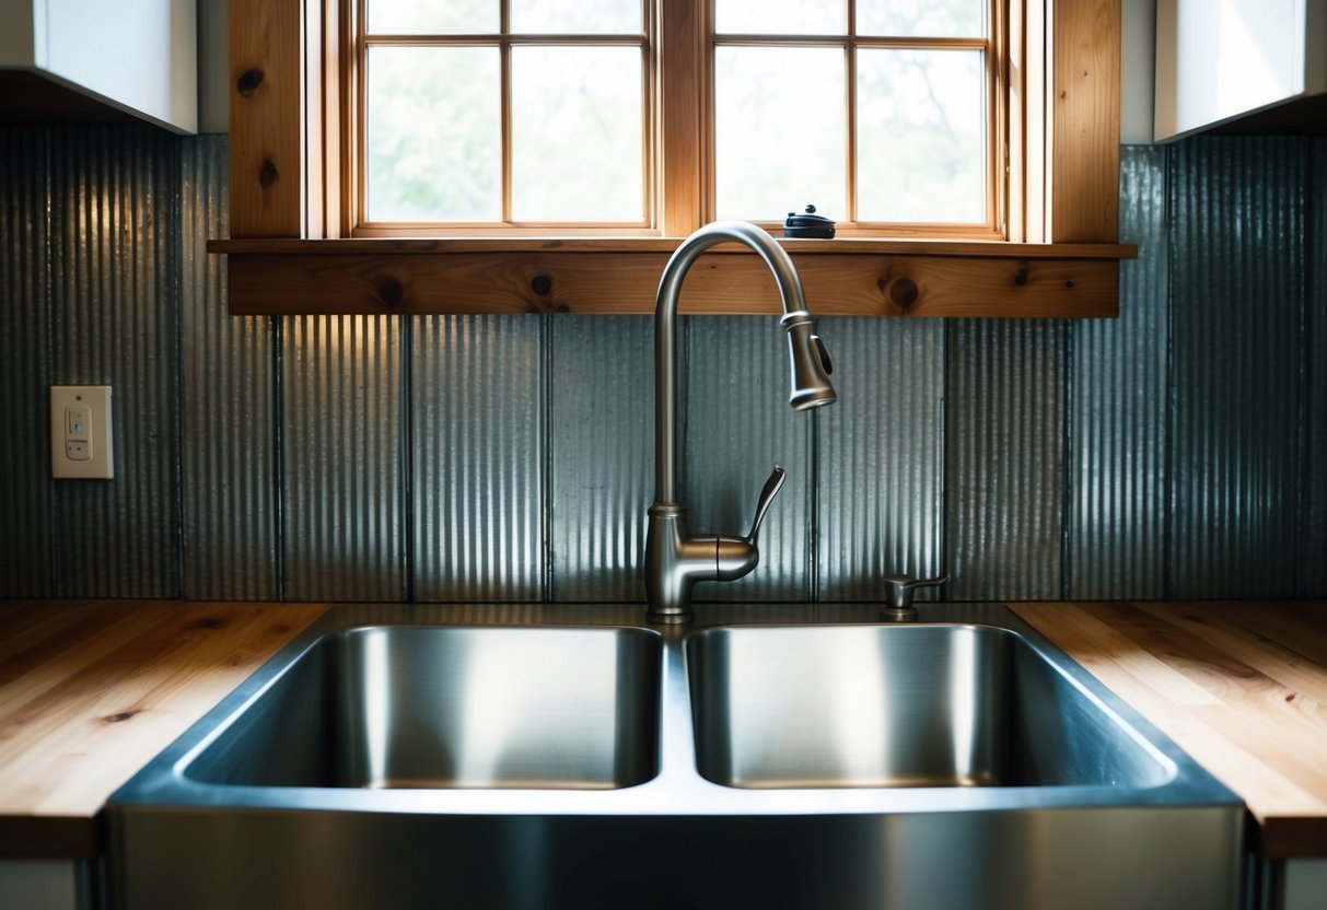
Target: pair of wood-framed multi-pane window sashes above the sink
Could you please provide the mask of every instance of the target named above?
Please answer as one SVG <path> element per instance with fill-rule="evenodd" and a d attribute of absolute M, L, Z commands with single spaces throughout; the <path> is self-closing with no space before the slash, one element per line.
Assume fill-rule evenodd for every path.
<path fill-rule="evenodd" d="M 353 229 L 660 228 L 654 86 L 701 60 L 666 129 L 701 150 L 702 220 L 813 202 L 855 233 L 1001 236 L 1005 7 L 358 0 Z"/>

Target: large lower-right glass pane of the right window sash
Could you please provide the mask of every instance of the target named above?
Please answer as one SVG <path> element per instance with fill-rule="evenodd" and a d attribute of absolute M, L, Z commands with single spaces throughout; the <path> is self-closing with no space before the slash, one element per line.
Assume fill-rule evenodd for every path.
<path fill-rule="evenodd" d="M 860 50 L 857 218 L 983 223 L 985 121 L 979 50 Z"/>

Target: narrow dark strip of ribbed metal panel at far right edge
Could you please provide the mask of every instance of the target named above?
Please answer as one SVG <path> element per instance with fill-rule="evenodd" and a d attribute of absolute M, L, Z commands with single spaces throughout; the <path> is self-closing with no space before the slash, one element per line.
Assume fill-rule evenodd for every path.
<path fill-rule="evenodd" d="M 1311 139 L 1308 196 L 1308 356 L 1302 383 L 1308 390 L 1304 512 L 1299 549 L 1299 594 L 1327 597 L 1327 137 Z"/>

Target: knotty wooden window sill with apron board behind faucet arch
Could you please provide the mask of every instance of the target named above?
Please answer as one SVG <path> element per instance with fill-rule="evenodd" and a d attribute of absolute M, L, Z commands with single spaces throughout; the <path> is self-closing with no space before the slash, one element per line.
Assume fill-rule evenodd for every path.
<path fill-rule="evenodd" d="M 681 239 L 212 240 L 232 314 L 653 313 Z M 780 240 L 817 316 L 1113 317 L 1132 244 Z M 681 312 L 778 313 L 764 264 L 725 244 Z"/>

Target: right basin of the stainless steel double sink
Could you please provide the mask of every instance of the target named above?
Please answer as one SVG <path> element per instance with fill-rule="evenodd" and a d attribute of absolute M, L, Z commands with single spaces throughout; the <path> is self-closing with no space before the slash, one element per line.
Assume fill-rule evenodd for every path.
<path fill-rule="evenodd" d="M 725 787 L 1120 787 L 1176 768 L 994 626 L 722 627 L 686 643 L 701 775 Z"/>

